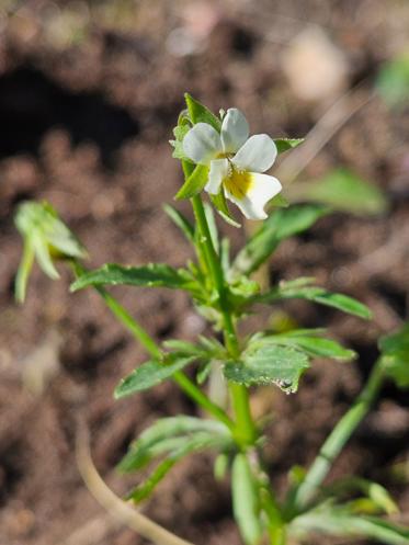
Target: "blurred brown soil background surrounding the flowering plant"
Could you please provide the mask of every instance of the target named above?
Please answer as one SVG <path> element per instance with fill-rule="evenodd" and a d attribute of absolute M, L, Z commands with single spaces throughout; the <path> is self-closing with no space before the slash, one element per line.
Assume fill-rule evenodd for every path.
<path fill-rule="evenodd" d="M 254 395 L 254 413 L 273 415 L 266 456 L 279 490 L 359 391 L 377 337 L 408 318 L 406 0 L 0 0 L 1 544 L 144 543 L 83 486 L 76 418 L 91 429 L 104 479 L 124 493 L 135 479 L 113 467 L 129 441 L 156 418 L 193 408 L 172 384 L 113 401 L 144 353 L 94 294 L 68 294 L 67 271 L 52 282 L 35 270 L 26 304 L 14 304 L 22 245 L 12 215 L 26 198 L 49 201 L 93 266 L 182 264 L 190 249 L 161 205 L 181 184 L 168 140 L 185 91 L 215 111 L 241 109 L 251 133 L 307 136 L 273 173 L 291 201 L 337 212 L 280 248 L 271 279 L 316 276 L 375 315 L 366 323 L 288 303 L 263 316 L 329 325 L 361 354 L 356 364 L 317 362 L 295 396 Z M 221 228 L 237 249 L 242 231 Z M 205 332 L 183 294 L 115 293 L 158 339 Z M 332 477 L 354 472 L 391 488 L 409 524 L 409 401 L 391 386 Z M 145 510 L 197 545 L 239 544 L 211 456 L 178 466 Z"/>

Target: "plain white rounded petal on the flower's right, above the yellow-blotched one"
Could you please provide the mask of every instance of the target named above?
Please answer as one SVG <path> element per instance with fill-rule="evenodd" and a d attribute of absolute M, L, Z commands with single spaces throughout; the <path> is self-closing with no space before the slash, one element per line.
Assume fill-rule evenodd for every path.
<path fill-rule="evenodd" d="M 277 147 L 268 135 L 251 136 L 238 150 L 231 162 L 239 170 L 265 172 L 275 161 Z"/>

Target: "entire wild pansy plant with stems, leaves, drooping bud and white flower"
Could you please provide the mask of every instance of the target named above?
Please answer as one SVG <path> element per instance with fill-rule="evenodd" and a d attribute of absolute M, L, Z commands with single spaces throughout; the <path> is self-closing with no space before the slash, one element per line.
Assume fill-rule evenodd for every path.
<path fill-rule="evenodd" d="M 207 418 L 180 415 L 159 419 L 134 441 L 120 470 L 138 472 L 147 466 L 152 470 L 129 491 L 128 499 L 136 503 L 147 499 L 181 458 L 211 450 L 216 454 L 216 478 L 230 478 L 234 516 L 248 545 L 302 543 L 319 533 L 408 544 L 409 530 L 387 519 L 397 507 L 380 485 L 354 475 L 323 482 L 384 381 L 389 378 L 399 387 L 409 387 L 409 325 L 380 339 L 379 356 L 362 393 L 334 427 L 313 465 L 289 470 L 287 493 L 279 498 L 263 464 L 266 439 L 262 422 L 255 421 L 251 412 L 250 387 L 273 385 L 285 394 L 295 394 L 315 357 L 342 362 L 356 354 L 327 338 L 325 329 L 268 328 L 240 337 L 238 325 L 257 305 L 272 306 L 286 299 L 307 299 L 356 319 L 370 319 L 371 311 L 346 295 L 317 286 L 310 277 L 282 280 L 265 291 L 251 279 L 283 240 L 305 231 L 331 209 L 315 203 L 288 206 L 279 194 L 281 183 L 265 174 L 277 154 L 302 140 L 272 139 L 266 135 L 249 138 L 248 123 L 238 110 L 220 112 L 218 117 L 189 94 L 185 100 L 186 110 L 180 114 L 171 144 L 184 173 L 177 200 L 190 198 L 194 223 L 172 206 L 167 205 L 166 212 L 193 246 L 196 260 L 180 269 L 150 263 L 106 264 L 87 271 L 82 264 L 84 249 L 55 211 L 48 204 L 25 203 L 16 214 L 24 238 L 16 277 L 19 300 L 24 299 L 34 259 L 52 279 L 58 274 L 55 261 L 64 260 L 76 277 L 71 291 L 88 286 L 96 289 L 149 354 L 146 363 L 116 386 L 115 398 L 172 379 L 207 413 Z M 239 225 L 227 201 L 247 218 L 265 219 L 232 260 L 228 239 L 219 237 L 212 206 L 203 203 L 203 192 L 229 224 Z M 265 208 L 272 197 L 273 209 L 268 215 Z M 209 322 L 208 334 L 196 342 L 170 339 L 158 344 L 106 291 L 106 286 L 117 284 L 185 291 Z M 219 370 L 221 373 L 215 373 Z M 227 404 L 216 402 L 206 394 L 209 379 L 226 387 Z"/>

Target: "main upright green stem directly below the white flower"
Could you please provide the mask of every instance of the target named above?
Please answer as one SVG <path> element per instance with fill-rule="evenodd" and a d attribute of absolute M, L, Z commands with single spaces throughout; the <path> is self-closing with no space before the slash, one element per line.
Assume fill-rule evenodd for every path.
<path fill-rule="evenodd" d="M 213 247 L 211 231 L 208 228 L 206 214 L 200 195 L 192 197 L 193 212 L 196 218 L 200 241 L 211 271 L 213 282 L 218 295 L 218 303 L 224 321 L 225 344 L 232 357 L 240 354 L 235 323 L 228 308 L 227 291 L 223 269 L 218 256 Z M 242 445 L 251 445 L 257 439 L 257 429 L 250 411 L 249 393 L 241 384 L 229 384 L 232 408 L 235 411 L 237 427 L 236 439 Z"/>

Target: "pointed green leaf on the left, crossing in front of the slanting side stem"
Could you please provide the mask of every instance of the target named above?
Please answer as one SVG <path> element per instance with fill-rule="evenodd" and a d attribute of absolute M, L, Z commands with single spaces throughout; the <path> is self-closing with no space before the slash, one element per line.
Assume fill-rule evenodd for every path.
<path fill-rule="evenodd" d="M 115 388 L 115 399 L 130 396 L 156 386 L 174 375 L 195 360 L 194 356 L 168 357 L 168 361 L 150 360 L 136 367 L 130 375 L 123 378 Z"/>

